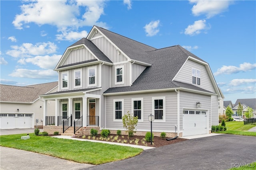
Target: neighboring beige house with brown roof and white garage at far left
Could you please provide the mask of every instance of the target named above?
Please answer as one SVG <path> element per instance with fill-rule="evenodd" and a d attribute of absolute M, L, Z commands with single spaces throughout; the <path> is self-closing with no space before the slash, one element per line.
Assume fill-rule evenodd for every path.
<path fill-rule="evenodd" d="M 44 103 L 39 95 L 57 90 L 58 82 L 23 87 L 0 84 L 0 129 L 42 128 Z M 55 114 L 55 101 L 48 101 L 47 111 Z"/>

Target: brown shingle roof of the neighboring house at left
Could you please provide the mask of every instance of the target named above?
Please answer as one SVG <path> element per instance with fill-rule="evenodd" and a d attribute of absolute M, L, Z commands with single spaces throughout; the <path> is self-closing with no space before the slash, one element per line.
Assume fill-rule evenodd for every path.
<path fill-rule="evenodd" d="M 58 82 L 30 86 L 10 86 L 0 84 L 1 102 L 31 103 L 37 100 L 40 94 L 47 94 L 56 86 L 58 86 Z"/>

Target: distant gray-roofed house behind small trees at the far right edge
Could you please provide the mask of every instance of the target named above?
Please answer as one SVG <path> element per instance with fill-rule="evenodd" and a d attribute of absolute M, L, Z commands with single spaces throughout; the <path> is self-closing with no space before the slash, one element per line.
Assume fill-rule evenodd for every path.
<path fill-rule="evenodd" d="M 238 106 L 239 106 L 239 102 L 243 106 L 242 117 L 245 118 L 244 113 L 247 111 L 248 107 L 252 108 L 253 115 L 254 115 L 254 117 L 256 117 L 256 98 L 236 100 L 236 103 L 234 104 L 234 107 L 232 108 L 232 111 L 234 112 L 233 117 L 238 117 L 237 109 L 238 109 Z"/>

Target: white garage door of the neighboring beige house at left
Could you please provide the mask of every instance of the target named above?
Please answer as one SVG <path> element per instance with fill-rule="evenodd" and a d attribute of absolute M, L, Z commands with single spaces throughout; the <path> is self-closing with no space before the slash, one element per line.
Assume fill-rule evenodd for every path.
<path fill-rule="evenodd" d="M 0 113 L 0 129 L 32 128 L 32 114 Z"/>

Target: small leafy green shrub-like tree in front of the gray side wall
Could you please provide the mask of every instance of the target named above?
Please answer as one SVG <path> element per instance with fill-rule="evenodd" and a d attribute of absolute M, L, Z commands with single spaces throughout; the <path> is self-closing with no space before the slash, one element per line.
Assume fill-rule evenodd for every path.
<path fill-rule="evenodd" d="M 138 123 L 138 116 L 134 117 L 129 113 L 129 111 L 127 111 L 127 114 L 122 117 L 122 121 L 124 129 L 126 129 L 126 133 L 128 132 L 128 137 L 133 137 L 134 133 L 136 133 L 134 129 Z"/>

